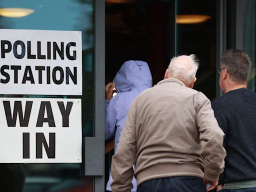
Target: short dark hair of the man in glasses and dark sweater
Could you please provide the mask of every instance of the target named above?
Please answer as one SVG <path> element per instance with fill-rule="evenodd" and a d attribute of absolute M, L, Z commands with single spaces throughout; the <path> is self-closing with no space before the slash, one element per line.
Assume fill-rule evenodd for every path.
<path fill-rule="evenodd" d="M 249 55 L 239 49 L 229 49 L 220 56 L 221 67 L 225 67 L 234 82 L 243 83 L 248 80 L 251 61 Z"/>

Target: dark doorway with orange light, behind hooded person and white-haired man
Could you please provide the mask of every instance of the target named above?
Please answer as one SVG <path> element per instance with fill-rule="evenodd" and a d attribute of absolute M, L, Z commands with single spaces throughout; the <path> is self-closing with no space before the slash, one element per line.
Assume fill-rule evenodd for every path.
<path fill-rule="evenodd" d="M 153 84 L 173 56 L 199 59 L 194 88 L 216 95 L 216 0 L 105 0 L 105 84 L 126 60 L 148 63 Z M 105 182 L 113 140 L 106 141 Z"/>

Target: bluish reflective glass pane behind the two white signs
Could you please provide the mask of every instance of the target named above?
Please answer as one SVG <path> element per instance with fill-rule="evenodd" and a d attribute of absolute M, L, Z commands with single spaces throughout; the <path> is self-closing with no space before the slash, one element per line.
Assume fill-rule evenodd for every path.
<path fill-rule="evenodd" d="M 82 31 L 82 136 L 93 136 L 93 0 L 0 0 L 0 8 L 25 7 L 34 10 L 24 17 L 0 16 L 0 28 Z M 1 95 L 4 96 L 4 95 Z M 15 95 L 56 97 L 56 95 Z M 80 176 L 78 163 L 26 163 L 23 192 L 93 191 L 92 176 Z M 1 170 L 0 170 L 1 171 Z"/>

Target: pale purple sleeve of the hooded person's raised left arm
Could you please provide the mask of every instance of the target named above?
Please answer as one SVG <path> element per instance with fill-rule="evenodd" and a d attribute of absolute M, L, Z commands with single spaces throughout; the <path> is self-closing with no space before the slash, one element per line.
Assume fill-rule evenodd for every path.
<path fill-rule="evenodd" d="M 113 97 L 110 101 L 105 100 L 105 140 L 114 136 L 116 118 L 116 100 Z"/>

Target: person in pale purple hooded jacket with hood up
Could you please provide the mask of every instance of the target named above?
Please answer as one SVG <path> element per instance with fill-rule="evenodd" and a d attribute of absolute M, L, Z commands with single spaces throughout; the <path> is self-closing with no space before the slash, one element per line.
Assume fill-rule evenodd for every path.
<path fill-rule="evenodd" d="M 124 126 L 128 109 L 132 100 L 143 90 L 152 86 L 152 76 L 146 62 L 140 60 L 125 61 L 116 73 L 113 82 L 105 86 L 105 140 L 114 136 L 114 153 Z M 113 88 L 117 94 L 112 97 Z M 112 176 L 106 184 L 106 190 L 112 191 Z M 136 191 L 136 179 L 132 179 Z"/>

